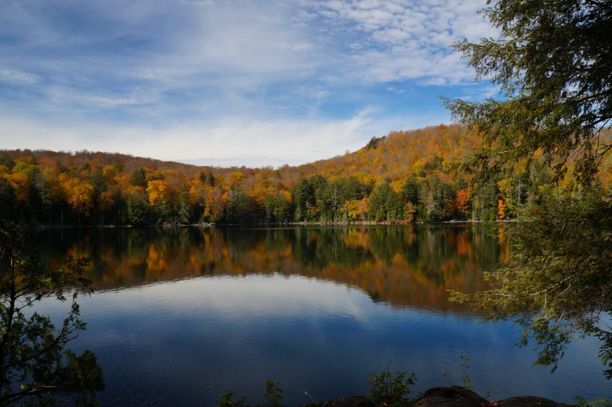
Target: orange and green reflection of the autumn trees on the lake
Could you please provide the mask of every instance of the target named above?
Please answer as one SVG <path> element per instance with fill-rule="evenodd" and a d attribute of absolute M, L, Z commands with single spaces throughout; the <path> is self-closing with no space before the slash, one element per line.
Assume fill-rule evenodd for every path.
<path fill-rule="evenodd" d="M 448 289 L 486 289 L 483 270 L 507 249 L 482 226 L 352 228 L 145 228 L 44 231 L 58 264 L 77 252 L 94 259 L 99 288 L 192 276 L 282 273 L 331 280 L 393 306 L 459 306 Z"/>

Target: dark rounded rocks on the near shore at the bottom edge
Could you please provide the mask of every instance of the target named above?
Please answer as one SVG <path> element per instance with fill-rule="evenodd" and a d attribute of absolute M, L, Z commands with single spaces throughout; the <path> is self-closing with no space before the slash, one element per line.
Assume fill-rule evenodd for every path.
<path fill-rule="evenodd" d="M 364 396 L 346 396 L 340 399 L 321 403 L 307 403 L 295 407 L 386 407 L 384 401 L 376 406 Z M 253 404 L 246 407 L 269 407 L 262 404 Z M 471 390 L 459 386 L 433 387 L 410 404 L 408 407 L 570 407 L 565 403 L 558 403 L 551 399 L 536 396 L 517 396 L 499 401 L 487 400 Z"/>

